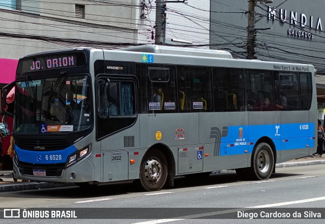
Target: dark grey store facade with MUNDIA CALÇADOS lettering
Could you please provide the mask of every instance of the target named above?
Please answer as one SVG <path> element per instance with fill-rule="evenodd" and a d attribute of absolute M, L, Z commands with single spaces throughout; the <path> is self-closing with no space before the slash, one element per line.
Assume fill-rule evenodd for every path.
<path fill-rule="evenodd" d="M 325 16 L 323 0 L 211 0 L 211 48 L 246 58 L 248 25 L 253 25 L 256 59 L 308 63 L 315 67 L 319 117 L 325 104 Z M 253 4 L 253 22 L 248 22 Z M 250 43 L 252 43 L 250 42 Z"/>

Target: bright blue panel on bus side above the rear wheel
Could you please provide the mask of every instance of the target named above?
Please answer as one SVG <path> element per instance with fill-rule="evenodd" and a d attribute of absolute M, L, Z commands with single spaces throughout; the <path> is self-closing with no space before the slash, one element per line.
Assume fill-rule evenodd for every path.
<path fill-rule="evenodd" d="M 228 135 L 221 138 L 220 156 L 252 153 L 256 141 L 269 137 L 277 151 L 315 147 L 314 123 L 229 126 Z"/>

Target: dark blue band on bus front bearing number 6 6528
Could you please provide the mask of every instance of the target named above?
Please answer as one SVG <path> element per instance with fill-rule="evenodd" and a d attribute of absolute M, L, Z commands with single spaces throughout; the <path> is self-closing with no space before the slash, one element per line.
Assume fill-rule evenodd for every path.
<path fill-rule="evenodd" d="M 15 145 L 15 153 L 18 155 L 19 161 L 32 164 L 66 163 L 68 156 L 76 151 L 78 150 L 73 145 L 66 149 L 53 151 L 24 150 Z"/>

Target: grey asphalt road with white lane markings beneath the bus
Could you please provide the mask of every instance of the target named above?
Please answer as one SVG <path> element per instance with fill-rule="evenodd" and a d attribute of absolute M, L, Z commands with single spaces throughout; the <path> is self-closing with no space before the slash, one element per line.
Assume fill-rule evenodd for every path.
<path fill-rule="evenodd" d="M 175 180 L 175 187 L 156 192 L 137 191 L 132 183 L 15 191 L 0 193 L 0 204 L 27 211 L 66 208 L 79 216 L 74 220 L 6 219 L 6 223 L 323 223 L 324 171 L 325 165 L 278 168 L 266 181 L 242 181 L 235 173 L 182 177 Z M 296 212 L 309 219 L 262 219 L 261 212 L 289 213 L 290 218 Z M 246 213 L 258 217 L 238 218 Z"/>

